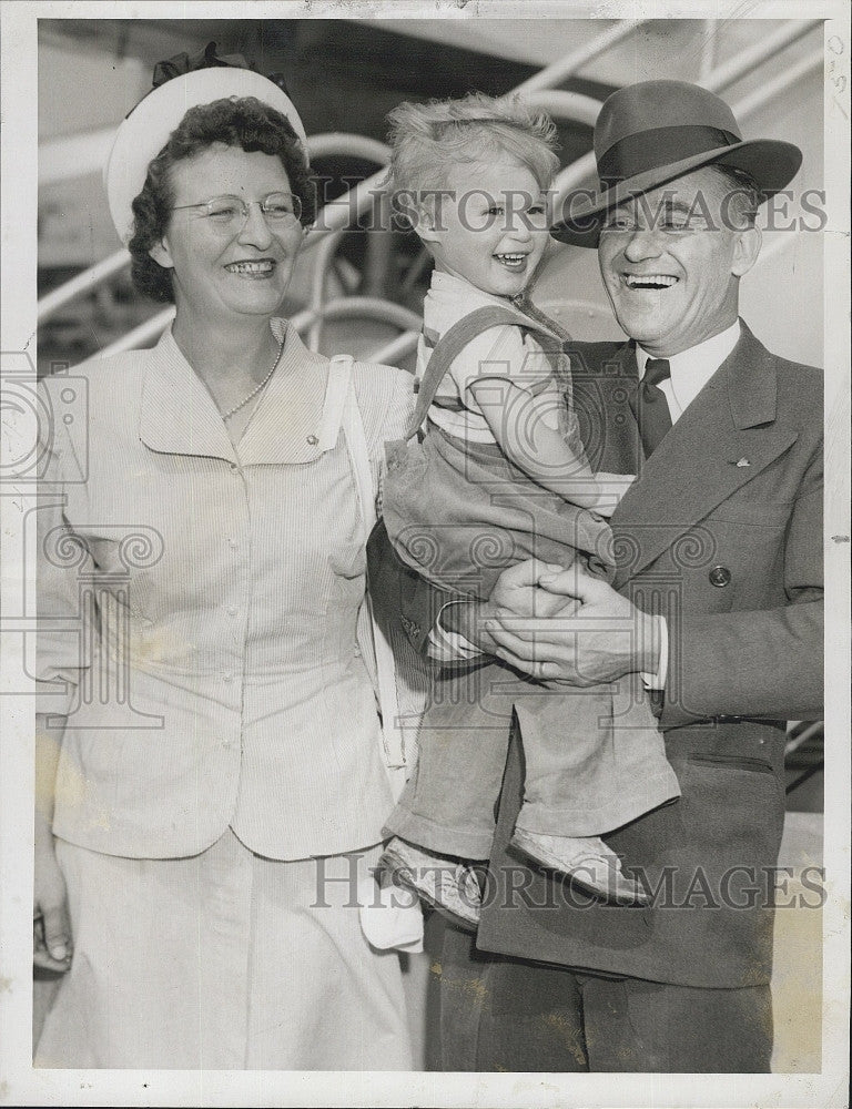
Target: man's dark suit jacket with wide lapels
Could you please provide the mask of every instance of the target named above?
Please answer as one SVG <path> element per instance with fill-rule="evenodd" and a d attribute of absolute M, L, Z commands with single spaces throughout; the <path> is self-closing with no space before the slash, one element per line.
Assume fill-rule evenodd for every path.
<path fill-rule="evenodd" d="M 682 796 L 608 835 L 656 891 L 590 903 L 507 843 L 523 752 L 507 765 L 477 945 L 693 986 L 767 983 L 784 814 L 783 722 L 822 706 L 822 375 L 748 328 L 642 462 L 632 344 L 570 344 L 591 465 L 637 472 L 612 516 L 616 588 L 668 621 L 660 710 Z M 373 588 L 423 645 L 437 604 L 374 542 Z"/>

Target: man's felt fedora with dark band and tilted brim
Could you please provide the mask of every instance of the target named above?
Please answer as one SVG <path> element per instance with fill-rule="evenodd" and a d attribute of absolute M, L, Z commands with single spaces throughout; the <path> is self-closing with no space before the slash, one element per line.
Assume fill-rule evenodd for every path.
<path fill-rule="evenodd" d="M 641 81 L 608 96 L 595 124 L 600 190 L 568 195 L 550 234 L 597 246 L 604 216 L 651 189 L 703 165 L 743 170 L 762 200 L 783 189 L 802 164 L 798 146 L 778 139 L 743 140 L 733 112 L 714 93 L 687 81 Z"/>

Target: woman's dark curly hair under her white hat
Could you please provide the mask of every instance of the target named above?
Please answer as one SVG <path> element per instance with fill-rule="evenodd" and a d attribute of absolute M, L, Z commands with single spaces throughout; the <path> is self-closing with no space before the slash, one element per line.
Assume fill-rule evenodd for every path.
<path fill-rule="evenodd" d="M 239 146 L 248 154 L 260 151 L 277 156 L 294 195 L 302 202 L 302 225 L 314 222 L 315 183 L 302 142 L 286 116 L 255 96 L 214 100 L 191 108 L 149 165 L 142 192 L 133 201 L 133 237 L 128 244 L 131 274 L 139 292 L 153 301 L 174 302 L 171 269 L 159 265 L 149 253 L 162 240 L 172 214 L 170 170 L 216 142 Z"/>

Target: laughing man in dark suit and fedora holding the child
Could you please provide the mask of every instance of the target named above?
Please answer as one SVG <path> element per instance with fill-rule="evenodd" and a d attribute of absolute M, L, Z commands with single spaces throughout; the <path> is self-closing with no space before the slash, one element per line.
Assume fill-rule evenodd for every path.
<path fill-rule="evenodd" d="M 597 245 L 631 338 L 568 347 L 592 467 L 639 475 L 611 519 L 615 588 L 557 576 L 565 612 L 535 619 L 527 563 L 503 611 L 443 622 L 539 681 L 641 672 L 682 796 L 607 836 L 651 904 L 592 902 L 507 853 L 513 745 L 476 947 L 445 936 L 443 1065 L 768 1071 L 784 721 L 822 702 L 822 379 L 770 354 L 738 295 L 754 208 L 801 155 L 743 142 L 719 98 L 672 81 L 610 96 L 595 152 L 601 189 L 554 234 Z M 424 591 L 400 597 L 422 642 Z"/>

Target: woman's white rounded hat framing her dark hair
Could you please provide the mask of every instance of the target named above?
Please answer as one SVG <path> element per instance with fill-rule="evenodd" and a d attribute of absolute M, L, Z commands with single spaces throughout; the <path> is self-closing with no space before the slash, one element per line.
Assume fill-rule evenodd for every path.
<path fill-rule="evenodd" d="M 103 170 L 110 215 L 125 245 L 133 235 L 133 201 L 142 192 L 148 166 L 191 108 L 231 96 L 254 96 L 281 112 L 296 132 L 307 162 L 307 136 L 293 101 L 254 70 L 231 65 L 193 70 L 150 92 L 119 126 Z"/>

